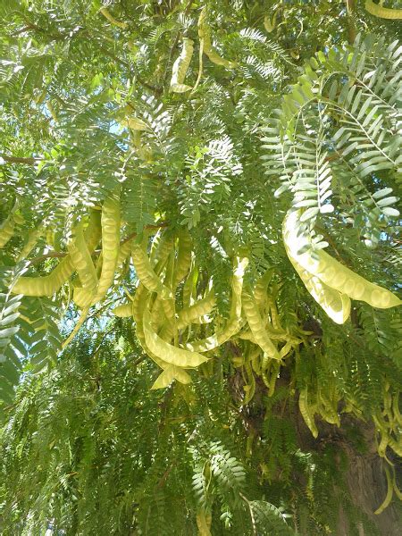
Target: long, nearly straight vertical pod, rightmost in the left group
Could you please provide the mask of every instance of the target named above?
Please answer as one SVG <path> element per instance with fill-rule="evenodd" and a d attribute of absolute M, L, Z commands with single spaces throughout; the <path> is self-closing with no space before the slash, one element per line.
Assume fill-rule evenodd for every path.
<path fill-rule="evenodd" d="M 92 305 L 103 297 L 113 283 L 116 271 L 117 257 L 119 253 L 120 239 L 120 201 L 118 194 L 114 192 L 105 199 L 102 206 L 102 272 L 96 289 L 96 297 Z"/>

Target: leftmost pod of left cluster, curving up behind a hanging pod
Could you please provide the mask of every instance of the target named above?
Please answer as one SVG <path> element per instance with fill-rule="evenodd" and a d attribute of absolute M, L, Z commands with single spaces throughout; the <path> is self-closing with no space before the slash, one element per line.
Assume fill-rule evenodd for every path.
<path fill-rule="evenodd" d="M 100 239 L 100 214 L 97 211 L 92 211 L 90 214 L 84 237 L 88 249 L 93 251 Z M 13 294 L 24 294 L 25 296 L 53 296 L 61 289 L 63 283 L 71 277 L 72 272 L 74 272 L 74 265 L 71 261 L 71 255 L 67 255 L 48 275 L 43 277 L 20 277 L 11 292 Z"/>

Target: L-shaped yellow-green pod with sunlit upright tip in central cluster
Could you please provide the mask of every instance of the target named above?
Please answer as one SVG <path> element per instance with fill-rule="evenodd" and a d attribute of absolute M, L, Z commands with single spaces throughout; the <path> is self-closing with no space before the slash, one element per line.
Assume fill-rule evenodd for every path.
<path fill-rule="evenodd" d="M 240 258 L 237 256 L 234 259 L 235 268 L 231 278 L 231 305 L 230 317 L 226 326 L 222 330 L 217 330 L 214 335 L 206 337 L 202 340 L 187 343 L 183 348 L 190 352 L 208 352 L 214 348 L 220 347 L 224 342 L 235 335 L 244 325 L 245 321 L 241 317 L 241 291 L 243 289 L 244 272 L 247 268 L 247 257 Z"/>

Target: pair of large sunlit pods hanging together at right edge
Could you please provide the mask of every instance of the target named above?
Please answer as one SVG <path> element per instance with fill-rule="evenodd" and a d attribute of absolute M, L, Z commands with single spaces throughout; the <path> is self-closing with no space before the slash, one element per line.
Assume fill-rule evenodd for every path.
<path fill-rule="evenodd" d="M 309 239 L 298 234 L 300 210 L 289 211 L 283 222 L 283 242 L 306 289 L 330 318 L 339 324 L 348 320 L 350 299 L 361 300 L 373 307 L 386 309 L 400 305 L 395 294 L 375 285 L 328 253 L 313 251 Z M 300 253 L 302 248 L 307 251 Z"/>

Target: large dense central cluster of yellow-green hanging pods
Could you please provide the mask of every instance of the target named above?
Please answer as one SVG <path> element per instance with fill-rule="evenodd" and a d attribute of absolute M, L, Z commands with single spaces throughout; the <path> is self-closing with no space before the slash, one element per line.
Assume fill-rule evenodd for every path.
<path fill-rule="evenodd" d="M 213 280 L 197 270 L 187 230 L 175 237 L 169 231 L 158 233 L 149 254 L 147 236 L 136 240 L 131 255 L 138 287 L 132 301 L 115 307 L 113 313 L 132 315 L 142 348 L 163 369 L 153 389 L 172 380 L 188 383 L 188 370 L 205 364 L 207 371 L 210 357 L 233 340 L 242 351 L 236 366 L 244 369 L 247 398 L 254 394 L 252 368 L 273 392 L 282 359 L 301 339 L 281 327 L 267 290 L 272 271 L 257 281 L 255 289 L 246 288 L 247 256 L 234 255 L 230 314 L 222 318 L 214 311 Z"/>

